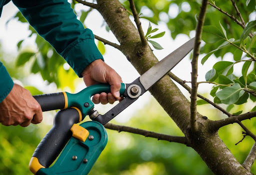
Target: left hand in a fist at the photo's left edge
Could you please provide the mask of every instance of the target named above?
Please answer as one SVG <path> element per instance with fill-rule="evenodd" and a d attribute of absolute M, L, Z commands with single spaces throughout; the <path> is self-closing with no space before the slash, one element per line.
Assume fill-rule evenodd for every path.
<path fill-rule="evenodd" d="M 7 97 L 0 103 L 0 123 L 4 126 L 20 125 L 27 127 L 30 123 L 42 121 L 42 110 L 30 92 L 14 84 Z"/>

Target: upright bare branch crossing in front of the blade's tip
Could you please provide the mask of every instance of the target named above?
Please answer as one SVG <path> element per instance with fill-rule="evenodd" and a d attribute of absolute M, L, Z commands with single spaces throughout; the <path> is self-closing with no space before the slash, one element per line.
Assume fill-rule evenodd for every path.
<path fill-rule="evenodd" d="M 192 57 L 192 72 L 191 72 L 191 95 L 190 95 L 190 127 L 192 131 L 196 131 L 198 129 L 196 118 L 197 118 L 197 111 L 196 111 L 196 96 L 197 96 L 197 61 L 199 56 L 199 49 L 201 43 L 201 34 L 202 34 L 202 27 L 205 19 L 207 7 L 207 0 L 202 0 L 201 10 L 199 12 L 197 26 L 196 26 L 196 34 L 194 40 L 194 48 L 193 48 L 193 57 Z"/>

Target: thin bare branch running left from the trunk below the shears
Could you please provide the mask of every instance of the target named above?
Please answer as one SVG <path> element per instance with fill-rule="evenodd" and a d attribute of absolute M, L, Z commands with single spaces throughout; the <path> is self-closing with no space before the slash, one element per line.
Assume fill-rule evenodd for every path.
<path fill-rule="evenodd" d="M 111 123 L 105 124 L 104 127 L 107 129 L 110 129 L 110 130 L 118 131 L 118 132 L 124 131 L 124 132 L 128 132 L 128 133 L 139 134 L 139 135 L 142 135 L 145 137 L 156 138 L 157 140 L 164 140 L 164 141 L 168 141 L 168 142 L 176 142 L 176 143 L 187 145 L 185 137 L 169 136 L 169 135 L 154 133 L 151 131 L 141 130 L 141 129 L 137 129 L 137 128 L 114 125 Z"/>

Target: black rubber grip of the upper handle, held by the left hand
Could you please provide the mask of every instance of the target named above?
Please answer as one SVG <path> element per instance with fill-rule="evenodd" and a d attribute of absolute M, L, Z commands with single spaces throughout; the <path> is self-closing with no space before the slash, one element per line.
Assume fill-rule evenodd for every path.
<path fill-rule="evenodd" d="M 42 111 L 64 109 L 65 107 L 65 98 L 62 92 L 35 95 L 33 97 L 40 104 Z"/>

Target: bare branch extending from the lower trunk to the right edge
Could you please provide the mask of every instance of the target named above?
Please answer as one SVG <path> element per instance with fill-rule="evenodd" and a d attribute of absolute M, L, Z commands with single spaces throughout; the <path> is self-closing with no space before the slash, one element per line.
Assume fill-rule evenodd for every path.
<path fill-rule="evenodd" d="M 212 128 L 214 131 L 217 131 L 219 128 L 229 125 L 229 124 L 233 124 L 233 123 L 238 123 L 239 121 L 242 120 L 246 120 L 246 119 L 250 119 L 256 117 L 256 111 L 253 112 L 247 112 L 245 114 L 241 114 L 238 116 L 232 116 L 226 119 L 222 119 L 222 120 L 217 120 L 217 121 L 211 121 L 212 122 Z"/>

